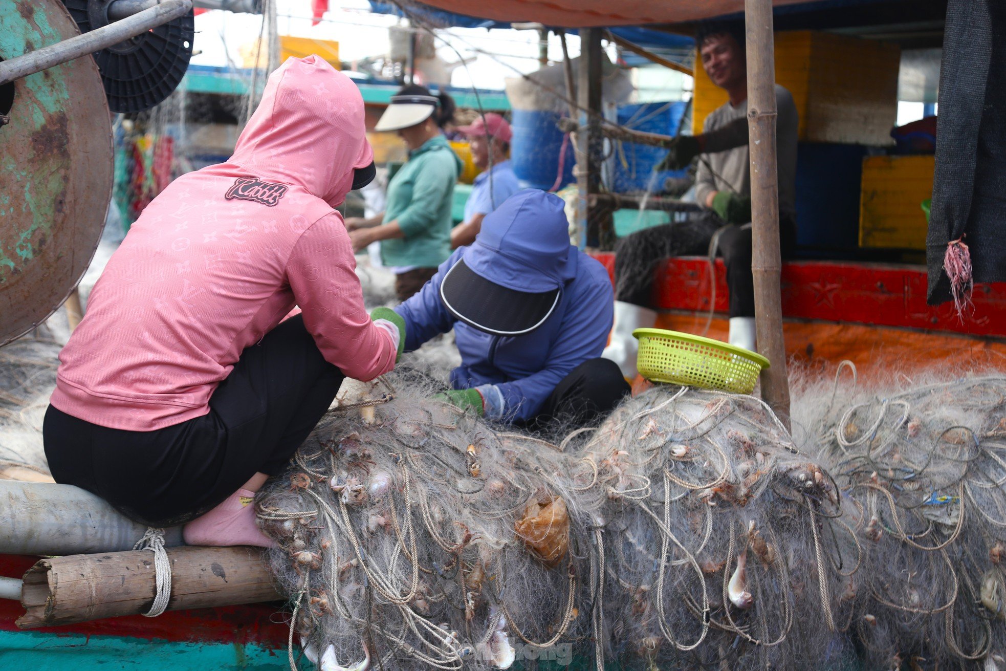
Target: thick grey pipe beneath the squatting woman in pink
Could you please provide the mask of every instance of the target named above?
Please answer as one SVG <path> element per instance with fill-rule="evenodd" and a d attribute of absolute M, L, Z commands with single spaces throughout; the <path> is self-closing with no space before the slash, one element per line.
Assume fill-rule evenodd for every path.
<path fill-rule="evenodd" d="M 0 554 L 86 554 L 133 549 L 147 527 L 72 485 L 0 480 Z M 181 527 L 164 544 L 182 545 Z"/>

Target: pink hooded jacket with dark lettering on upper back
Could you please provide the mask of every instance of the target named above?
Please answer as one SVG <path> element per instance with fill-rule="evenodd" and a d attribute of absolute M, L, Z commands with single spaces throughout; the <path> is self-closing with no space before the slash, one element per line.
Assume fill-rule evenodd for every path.
<path fill-rule="evenodd" d="M 59 354 L 52 405 L 130 431 L 205 414 L 295 304 L 346 375 L 390 370 L 395 343 L 363 309 L 332 209 L 372 158 L 356 86 L 317 56 L 288 59 L 230 160 L 176 179 L 133 224 Z"/>

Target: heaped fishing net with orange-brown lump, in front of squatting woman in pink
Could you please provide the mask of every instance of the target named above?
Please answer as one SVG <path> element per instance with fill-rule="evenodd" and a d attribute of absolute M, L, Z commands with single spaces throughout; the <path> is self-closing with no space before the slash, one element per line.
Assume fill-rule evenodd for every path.
<path fill-rule="evenodd" d="M 257 500 L 309 658 L 506 667 L 518 643 L 586 636 L 589 533 L 561 455 L 400 377 L 371 392 L 389 402 L 330 412 Z"/>

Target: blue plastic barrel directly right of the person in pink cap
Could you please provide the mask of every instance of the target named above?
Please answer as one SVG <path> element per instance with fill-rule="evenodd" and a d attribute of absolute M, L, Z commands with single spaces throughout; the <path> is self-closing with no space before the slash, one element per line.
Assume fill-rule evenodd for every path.
<path fill-rule="evenodd" d="M 510 140 L 510 163 L 521 186 L 548 190 L 555 185 L 563 134 L 555 125 L 554 112 L 513 110 Z M 559 188 L 572 182 L 576 162 L 571 140 L 566 143 Z"/>

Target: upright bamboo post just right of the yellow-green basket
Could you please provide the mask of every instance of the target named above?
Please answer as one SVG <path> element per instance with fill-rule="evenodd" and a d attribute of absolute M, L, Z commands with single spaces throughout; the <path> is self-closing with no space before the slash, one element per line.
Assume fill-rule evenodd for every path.
<path fill-rule="evenodd" d="M 790 383 L 783 341 L 779 249 L 779 173 L 776 165 L 776 57 L 772 0 L 745 0 L 747 127 L 751 172 L 754 314 L 759 351 L 772 362 L 762 372 L 762 397 L 790 426 Z"/>

